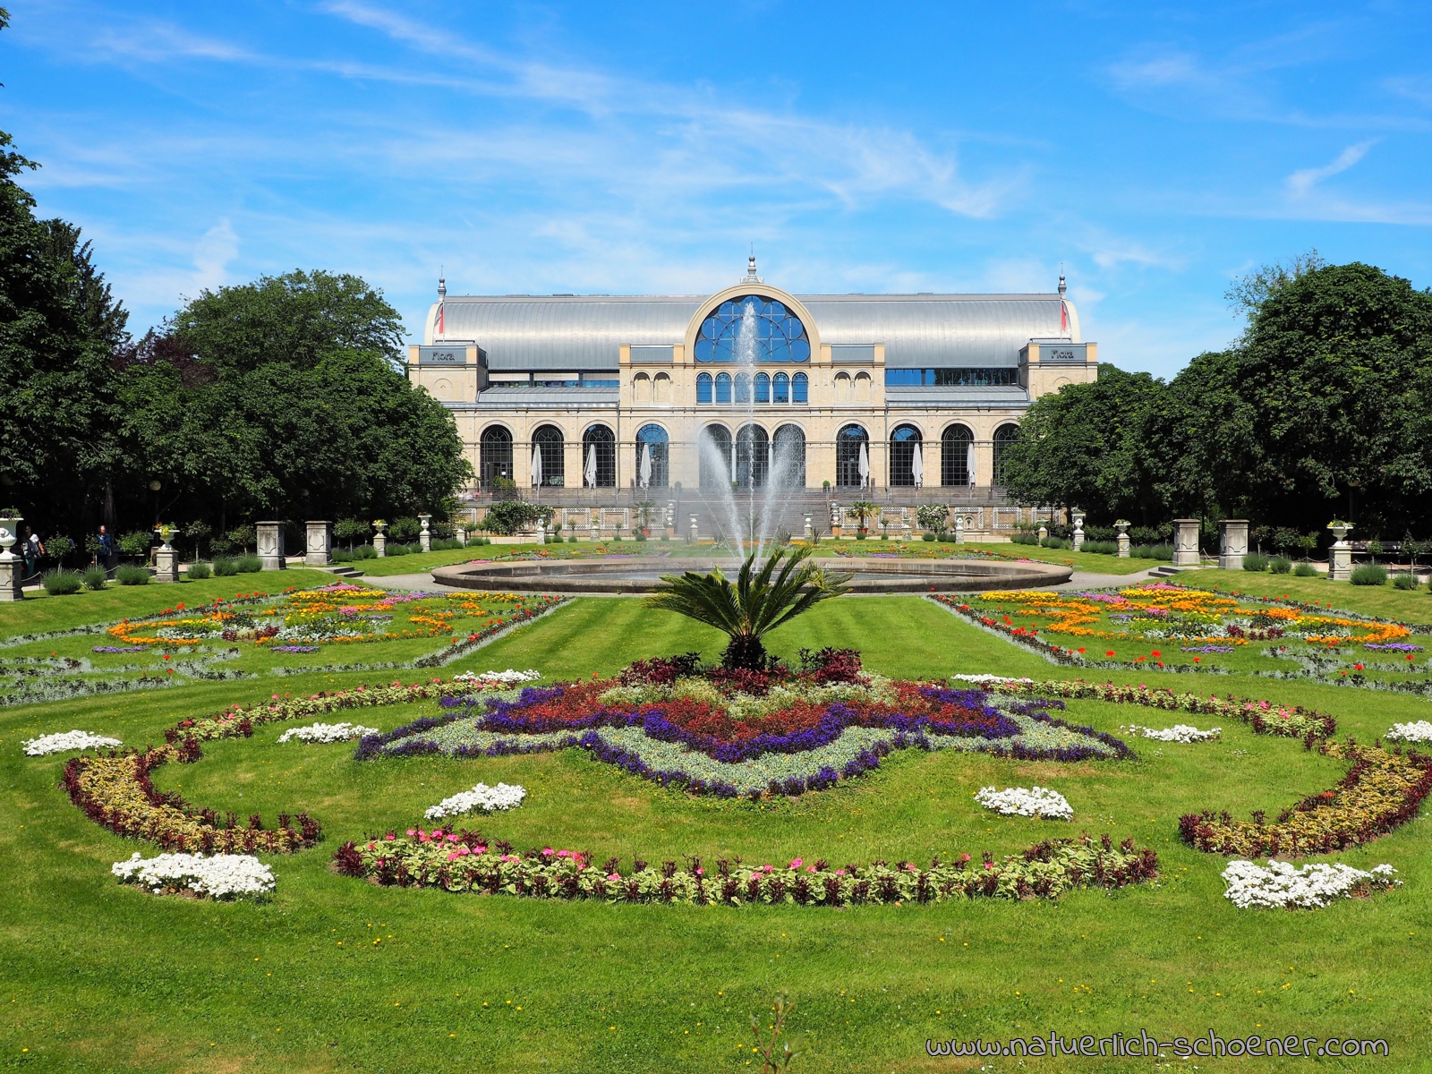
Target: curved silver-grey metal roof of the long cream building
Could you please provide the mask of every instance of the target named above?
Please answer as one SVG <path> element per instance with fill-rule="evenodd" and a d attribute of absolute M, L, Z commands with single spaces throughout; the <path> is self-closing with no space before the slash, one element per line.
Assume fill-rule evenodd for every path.
<path fill-rule="evenodd" d="M 752 286 L 752 291 L 760 291 Z M 1078 338 L 1058 295 L 796 295 L 822 344 L 885 344 L 889 368 L 1018 365 L 1030 339 Z M 448 296 L 437 341 L 475 341 L 490 369 L 613 369 L 621 344 L 680 345 L 705 295 Z M 1061 328 L 1060 304 L 1070 314 Z M 434 342 L 438 305 L 424 342 Z"/>

